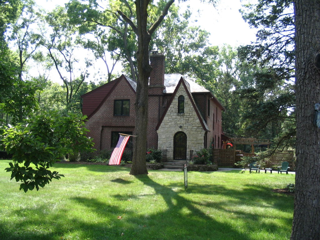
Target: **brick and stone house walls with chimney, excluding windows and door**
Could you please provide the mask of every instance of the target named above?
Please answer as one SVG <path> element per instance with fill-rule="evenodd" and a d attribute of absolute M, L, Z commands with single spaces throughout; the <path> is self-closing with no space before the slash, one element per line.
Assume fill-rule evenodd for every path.
<path fill-rule="evenodd" d="M 150 65 L 153 69 L 150 75 L 148 90 L 148 135 L 146 148 L 167 149 L 167 158 L 172 158 L 173 135 L 179 131 L 185 132 L 188 137 L 187 158 L 189 158 L 189 150 L 197 151 L 204 147 L 209 148 L 212 140 L 215 143 L 215 148 L 221 148 L 221 144 L 218 142 L 221 141 L 221 111 L 223 107 L 209 91 L 202 88 L 207 92 L 191 93 L 190 86 L 190 89 L 188 89 L 189 93 L 180 86 L 179 90 L 177 90 L 178 93 L 172 100 L 172 93 L 165 91 L 164 60 L 165 56 L 163 54 L 151 54 L 150 56 Z M 95 143 L 94 148 L 98 151 L 113 149 L 111 147 L 112 132 L 132 132 L 133 135 L 135 134 L 135 87 L 133 87 L 135 83 L 129 80 L 131 79 L 122 75 L 116 80 L 82 96 L 84 104 L 83 113 L 89 116 L 86 122 L 86 127 L 90 131 L 88 132 L 88 136 L 93 138 L 93 142 Z M 194 83 L 190 82 L 190 84 Z M 196 110 L 194 107 L 189 108 L 188 104 L 191 101 L 188 94 L 190 96 L 190 93 L 192 94 L 192 101 L 197 105 Z M 176 106 L 178 105 L 178 97 L 180 96 L 178 94 L 185 96 L 186 112 L 183 115 L 177 114 Z M 115 100 L 130 100 L 129 116 L 114 116 Z M 172 106 L 170 105 L 171 100 Z M 208 102 L 210 104 L 209 114 Z M 164 116 L 168 105 L 170 105 L 170 108 Z M 200 122 L 202 120 L 199 120 L 199 116 L 196 114 L 198 111 L 208 131 L 204 130 L 203 125 L 201 126 Z M 164 117 L 163 122 L 157 131 L 156 128 L 162 117 Z M 179 126 L 182 126 L 182 129 Z"/>

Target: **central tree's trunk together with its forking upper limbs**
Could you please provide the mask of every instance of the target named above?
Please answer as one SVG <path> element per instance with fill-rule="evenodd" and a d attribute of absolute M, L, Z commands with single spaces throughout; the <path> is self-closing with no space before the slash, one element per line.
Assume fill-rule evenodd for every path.
<path fill-rule="evenodd" d="M 160 26 L 164 17 L 168 14 L 170 6 L 174 0 L 164 3 L 160 8 L 161 14 L 157 15 L 155 21 L 148 19 L 148 7 L 150 1 L 137 0 L 136 6 L 136 24 L 128 18 L 124 12 L 118 10 L 117 13 L 122 19 L 129 23 L 133 32 L 138 38 L 138 51 L 137 51 L 137 91 L 136 91 L 136 119 L 135 119 L 135 132 L 137 135 L 133 145 L 132 168 L 130 174 L 147 174 L 146 168 L 146 144 L 147 144 L 147 119 L 148 119 L 148 80 L 152 68 L 149 62 L 149 49 L 150 42 L 156 29 Z M 211 1 L 213 2 L 213 1 Z"/>

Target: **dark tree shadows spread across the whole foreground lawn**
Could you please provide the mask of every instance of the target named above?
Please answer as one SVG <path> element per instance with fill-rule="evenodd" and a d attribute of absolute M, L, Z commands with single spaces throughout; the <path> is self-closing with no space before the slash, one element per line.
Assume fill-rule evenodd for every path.
<path fill-rule="evenodd" d="M 247 229 L 248 232 L 256 233 L 263 230 L 270 232 L 270 234 L 276 233 L 277 228 L 282 231 L 286 229 L 285 226 L 277 226 L 272 222 L 260 222 L 262 216 L 257 212 L 233 208 L 244 202 L 248 208 L 262 207 L 263 203 L 260 202 L 262 198 L 270 209 L 289 211 L 289 207 L 276 204 L 277 198 L 281 200 L 279 202 L 283 203 L 287 196 L 272 193 L 267 187 L 259 186 L 257 189 L 257 186 L 252 184 L 245 185 L 243 189 L 228 189 L 223 185 L 192 183 L 189 184 L 187 191 L 184 191 L 182 184 L 161 185 L 146 175 L 135 178 L 142 183 L 142 187 L 147 186 L 154 191 L 147 194 L 143 192 L 120 194 L 118 188 L 115 188 L 115 195 L 111 197 L 117 201 L 113 201 L 112 204 L 108 204 L 108 198 L 101 200 L 95 197 L 71 197 L 70 199 L 74 201 L 75 205 L 83 207 L 84 216 L 73 213 L 72 209 L 61 208 L 59 212 L 45 210 L 48 208 L 45 205 L 20 209 L 12 214 L 12 216 L 21 219 L 19 222 L 2 225 L 0 223 L 0 237 L 8 240 L 65 240 L 69 236 L 71 236 L 69 239 L 91 240 L 252 240 L 259 238 L 245 234 L 243 229 L 239 229 L 239 227 Z M 121 180 L 115 180 L 116 183 L 130 186 Z M 200 194 L 201 197 L 193 199 L 193 194 Z M 267 195 L 261 196 L 262 194 Z M 138 203 L 139 199 L 150 198 L 150 195 L 161 196 L 163 202 L 160 203 L 161 201 L 158 200 L 158 203 L 150 200 L 147 203 L 148 206 L 146 204 L 145 207 L 141 207 L 130 204 L 131 202 L 128 201 L 136 200 L 135 203 Z M 227 196 L 228 199 L 223 201 L 210 199 L 220 195 Z M 290 200 L 290 198 L 288 199 Z M 148 207 L 151 204 L 154 204 L 157 210 L 150 210 Z M 221 216 L 217 216 L 218 211 L 219 214 L 222 212 L 222 215 L 226 217 L 228 215 L 229 219 L 234 218 L 231 222 L 233 220 L 235 222 L 241 221 L 241 225 L 224 221 L 224 216 L 222 219 Z M 28 216 L 26 212 L 31 212 L 34 217 L 25 218 Z M 44 214 L 46 217 L 41 217 Z M 87 220 L 86 214 L 91 215 L 90 220 Z M 287 221 L 289 220 L 284 219 L 285 224 L 288 224 Z M 49 228 L 47 226 L 50 225 L 52 225 L 50 231 L 46 231 L 46 228 Z M 121 236 L 122 233 L 124 233 L 123 236 Z"/>

